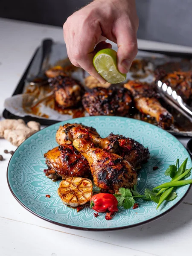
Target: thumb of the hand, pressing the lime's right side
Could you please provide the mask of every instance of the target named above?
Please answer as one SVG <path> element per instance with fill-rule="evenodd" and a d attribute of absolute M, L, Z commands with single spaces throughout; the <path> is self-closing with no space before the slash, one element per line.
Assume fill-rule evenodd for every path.
<path fill-rule="evenodd" d="M 127 73 L 131 67 L 131 63 L 137 55 L 137 34 L 132 29 L 123 27 L 117 29 L 116 42 L 117 51 L 117 67 L 121 73 Z"/>

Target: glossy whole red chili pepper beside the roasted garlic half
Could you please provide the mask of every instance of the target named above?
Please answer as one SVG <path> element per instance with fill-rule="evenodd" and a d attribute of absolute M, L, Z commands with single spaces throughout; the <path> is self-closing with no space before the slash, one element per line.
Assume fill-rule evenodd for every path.
<path fill-rule="evenodd" d="M 96 212 L 118 212 L 117 204 L 116 197 L 108 193 L 99 193 L 90 199 L 90 207 Z"/>

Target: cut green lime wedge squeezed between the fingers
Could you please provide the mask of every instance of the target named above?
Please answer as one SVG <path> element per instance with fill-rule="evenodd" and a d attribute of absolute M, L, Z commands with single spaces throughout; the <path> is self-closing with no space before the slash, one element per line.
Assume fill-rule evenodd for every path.
<path fill-rule="evenodd" d="M 102 49 L 93 58 L 93 65 L 97 72 L 111 84 L 125 81 L 127 75 L 119 72 L 117 68 L 116 51 Z"/>

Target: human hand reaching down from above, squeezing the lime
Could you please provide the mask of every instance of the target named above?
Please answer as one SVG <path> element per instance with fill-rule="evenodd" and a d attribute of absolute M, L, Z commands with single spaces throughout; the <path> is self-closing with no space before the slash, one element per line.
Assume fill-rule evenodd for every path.
<path fill-rule="evenodd" d="M 105 79 L 93 66 L 97 51 L 117 44 L 117 67 L 127 73 L 137 55 L 139 20 L 134 0 L 95 0 L 68 17 L 64 23 L 64 40 L 71 63 L 86 70 L 101 83 Z M 96 47 L 95 47 L 96 46 Z"/>

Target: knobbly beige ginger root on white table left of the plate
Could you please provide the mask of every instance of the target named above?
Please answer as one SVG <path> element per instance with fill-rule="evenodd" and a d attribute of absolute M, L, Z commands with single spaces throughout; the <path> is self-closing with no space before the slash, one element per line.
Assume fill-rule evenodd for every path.
<path fill-rule="evenodd" d="M 35 121 L 29 121 L 25 124 L 22 119 L 5 119 L 0 122 L 0 136 L 15 146 L 19 146 L 24 140 L 39 130 L 40 124 Z"/>

